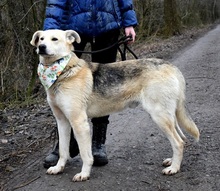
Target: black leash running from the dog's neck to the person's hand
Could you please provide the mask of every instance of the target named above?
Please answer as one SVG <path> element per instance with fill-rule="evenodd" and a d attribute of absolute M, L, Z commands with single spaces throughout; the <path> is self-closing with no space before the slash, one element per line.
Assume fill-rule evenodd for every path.
<path fill-rule="evenodd" d="M 129 51 L 134 56 L 135 59 L 138 59 L 136 54 L 128 47 L 127 43 L 129 41 L 132 41 L 131 36 L 123 36 L 117 42 L 115 42 L 114 44 L 110 45 L 109 47 L 100 49 L 100 50 L 95 50 L 95 51 L 74 50 L 74 52 L 83 53 L 83 54 L 95 54 L 95 53 L 100 53 L 100 52 L 103 52 L 105 50 L 108 50 L 108 49 L 110 49 L 114 46 L 118 46 L 118 50 L 119 50 L 119 53 L 121 55 L 121 59 L 123 61 L 126 60 L 126 51 Z M 121 45 L 124 45 L 123 50 L 120 48 Z"/>

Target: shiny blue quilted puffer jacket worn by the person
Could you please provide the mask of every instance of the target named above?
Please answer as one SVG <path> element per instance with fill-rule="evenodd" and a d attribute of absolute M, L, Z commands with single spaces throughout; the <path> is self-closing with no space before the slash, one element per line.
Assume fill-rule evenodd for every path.
<path fill-rule="evenodd" d="M 136 26 L 132 0 L 48 0 L 44 30 L 72 29 L 96 37 L 122 27 Z"/>

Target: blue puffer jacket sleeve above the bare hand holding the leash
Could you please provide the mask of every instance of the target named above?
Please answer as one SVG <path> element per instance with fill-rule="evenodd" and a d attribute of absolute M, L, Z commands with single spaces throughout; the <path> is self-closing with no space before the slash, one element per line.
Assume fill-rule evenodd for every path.
<path fill-rule="evenodd" d="M 132 0 L 118 0 L 119 8 L 122 15 L 122 26 L 135 27 L 137 22 L 136 13 L 133 9 L 133 1 Z"/>

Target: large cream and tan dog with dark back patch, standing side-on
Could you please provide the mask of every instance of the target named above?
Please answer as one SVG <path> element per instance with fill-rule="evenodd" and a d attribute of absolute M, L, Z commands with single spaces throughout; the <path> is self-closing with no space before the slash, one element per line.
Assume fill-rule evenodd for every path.
<path fill-rule="evenodd" d="M 64 170 L 69 158 L 72 128 L 83 162 L 81 172 L 73 177 L 73 181 L 89 179 L 93 156 L 88 118 L 119 112 L 137 103 L 150 114 L 171 143 L 173 156 L 163 161 L 166 168 L 162 173 L 177 173 L 186 139 L 180 127 L 197 141 L 200 136 L 185 109 L 186 85 L 180 70 L 156 58 L 110 64 L 86 62 L 74 54 L 74 41 L 81 41 L 77 32 L 55 29 L 36 31 L 30 42 L 39 54 L 38 74 L 59 133 L 60 157 L 57 165 L 50 167 L 47 174 L 58 174 Z M 62 66 L 57 66 L 59 64 Z M 50 71 L 56 72 L 50 74 Z M 48 80 L 50 75 L 55 78 Z"/>

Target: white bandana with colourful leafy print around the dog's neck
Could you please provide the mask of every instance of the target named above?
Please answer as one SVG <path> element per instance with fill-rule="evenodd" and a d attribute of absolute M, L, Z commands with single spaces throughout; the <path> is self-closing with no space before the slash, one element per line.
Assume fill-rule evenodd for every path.
<path fill-rule="evenodd" d="M 71 58 L 71 54 L 55 61 L 50 66 L 39 63 L 37 73 L 45 89 L 49 89 L 62 73 Z"/>

